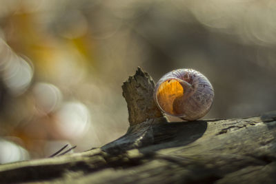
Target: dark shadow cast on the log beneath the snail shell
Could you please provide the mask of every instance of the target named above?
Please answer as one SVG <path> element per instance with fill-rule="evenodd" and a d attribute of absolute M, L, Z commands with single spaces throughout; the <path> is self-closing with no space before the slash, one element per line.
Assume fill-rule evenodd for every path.
<path fill-rule="evenodd" d="M 109 154 L 119 154 L 135 148 L 144 152 L 143 147 L 149 145 L 151 151 L 187 145 L 199 139 L 206 128 L 206 121 L 140 123 L 132 125 L 126 135 L 101 149 Z"/>

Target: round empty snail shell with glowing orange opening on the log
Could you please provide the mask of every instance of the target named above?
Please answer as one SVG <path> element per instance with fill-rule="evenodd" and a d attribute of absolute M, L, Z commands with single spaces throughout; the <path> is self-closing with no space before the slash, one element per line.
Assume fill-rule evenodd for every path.
<path fill-rule="evenodd" d="M 206 76 L 193 69 L 179 69 L 159 79 L 154 99 L 162 112 L 191 121 L 207 114 L 214 95 Z"/>

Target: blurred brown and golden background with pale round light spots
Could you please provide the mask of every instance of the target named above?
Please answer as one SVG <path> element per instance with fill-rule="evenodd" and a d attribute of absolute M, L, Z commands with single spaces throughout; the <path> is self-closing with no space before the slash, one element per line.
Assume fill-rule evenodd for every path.
<path fill-rule="evenodd" d="M 276 109 L 276 1 L 0 1 L 0 163 L 99 147 L 128 128 L 121 85 L 193 68 L 204 119 Z"/>

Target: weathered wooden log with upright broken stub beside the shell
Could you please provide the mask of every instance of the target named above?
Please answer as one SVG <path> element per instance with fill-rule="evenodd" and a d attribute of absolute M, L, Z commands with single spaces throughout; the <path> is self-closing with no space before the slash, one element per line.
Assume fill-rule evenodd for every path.
<path fill-rule="evenodd" d="M 0 183 L 276 183 L 276 111 L 170 122 L 141 69 L 123 85 L 130 127 L 101 148 L 0 165 Z"/>

